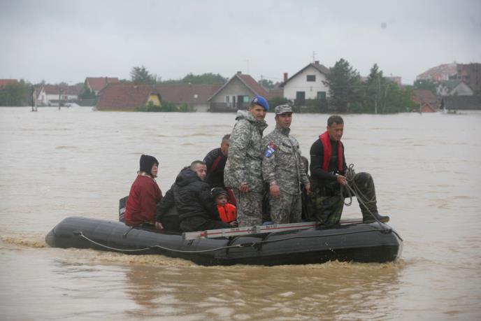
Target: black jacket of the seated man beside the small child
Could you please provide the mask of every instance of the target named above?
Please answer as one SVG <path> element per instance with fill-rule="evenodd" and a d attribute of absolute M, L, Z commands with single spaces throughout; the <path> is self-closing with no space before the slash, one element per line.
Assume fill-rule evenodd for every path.
<path fill-rule="evenodd" d="M 210 186 L 201 180 L 189 167 L 180 171 L 171 190 L 157 206 L 157 221 L 166 215 L 168 208 L 175 204 L 179 220 L 185 217 L 201 216 L 206 220 L 220 220 L 217 206 L 210 195 Z"/>

